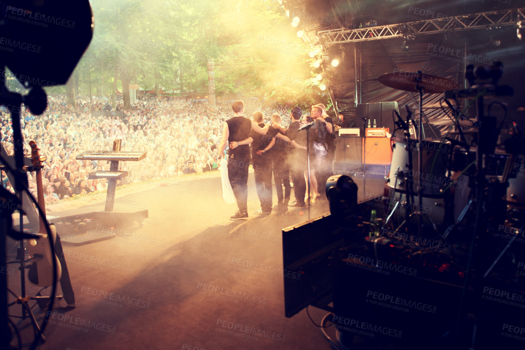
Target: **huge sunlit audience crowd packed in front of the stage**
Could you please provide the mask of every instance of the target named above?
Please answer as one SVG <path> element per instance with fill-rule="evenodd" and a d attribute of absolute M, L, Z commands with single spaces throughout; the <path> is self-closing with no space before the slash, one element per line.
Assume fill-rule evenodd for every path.
<path fill-rule="evenodd" d="M 77 195 L 107 189 L 106 179 L 88 179 L 95 170 L 109 171 L 106 161 L 77 161 L 83 152 L 112 150 L 113 140 L 122 140 L 122 151 L 147 152 L 140 162 L 121 162 L 120 171 L 129 175 L 117 186 L 148 180 L 168 180 L 187 174 L 218 169 L 218 150 L 223 123 L 230 118 L 231 106 L 218 106 L 217 117 L 210 119 L 207 103 L 191 100 L 143 97 L 123 110 L 120 97 L 117 116 L 91 115 L 91 111 L 107 108 L 107 101 L 96 97 L 77 97 L 76 107 L 66 104 L 65 96 L 48 96 L 48 108 L 34 116 L 22 108 L 24 153 L 30 155 L 29 141 L 37 143 L 41 157 L 45 157 L 41 171 L 46 201 L 57 201 Z M 253 109 L 260 109 L 260 107 Z M 273 113 L 283 117 L 283 125 L 290 122 L 289 112 L 272 108 L 261 109 L 265 118 Z M 13 154 L 11 116 L 0 108 L 1 141 L 8 155 Z M 3 153 L 3 155 L 5 155 Z M 36 196 L 36 174 L 28 174 L 29 187 Z M 12 190 L 2 172 L 4 187 Z"/>

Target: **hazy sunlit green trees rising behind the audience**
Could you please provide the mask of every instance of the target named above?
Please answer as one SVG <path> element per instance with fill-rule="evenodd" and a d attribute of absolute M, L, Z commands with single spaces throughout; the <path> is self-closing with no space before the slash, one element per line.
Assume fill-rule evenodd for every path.
<path fill-rule="evenodd" d="M 205 92 L 213 59 L 219 97 L 240 92 L 305 106 L 329 101 L 310 78 L 309 48 L 275 1 L 92 0 L 91 6 L 93 39 L 76 68 L 81 94 L 89 94 L 91 81 L 92 94 L 98 87 L 109 97 L 116 71 L 120 91 L 124 79 L 144 90 L 158 84 L 182 96 Z"/>

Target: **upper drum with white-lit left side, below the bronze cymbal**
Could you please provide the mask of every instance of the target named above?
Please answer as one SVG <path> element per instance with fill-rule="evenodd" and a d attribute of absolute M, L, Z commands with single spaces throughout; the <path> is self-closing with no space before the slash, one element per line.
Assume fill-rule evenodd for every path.
<path fill-rule="evenodd" d="M 423 187 L 423 196 L 439 195 L 439 190 L 447 187 L 445 174 L 450 145 L 432 141 L 421 142 L 423 163 L 421 166 L 422 176 L 420 184 L 417 150 L 419 143 L 412 143 L 412 172 L 408 174 L 408 145 L 403 140 L 393 140 L 395 144 L 392 153 L 392 164 L 390 166 L 390 174 L 386 180 L 388 186 L 395 188 L 398 192 L 405 193 L 407 190 L 405 178 L 408 175 L 412 175 L 414 184 L 412 188 L 415 193 L 417 193 L 417 186 L 421 185 Z"/>

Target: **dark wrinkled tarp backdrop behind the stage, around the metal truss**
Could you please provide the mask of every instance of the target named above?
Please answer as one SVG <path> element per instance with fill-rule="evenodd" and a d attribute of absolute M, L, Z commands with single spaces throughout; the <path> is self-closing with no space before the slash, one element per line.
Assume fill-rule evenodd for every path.
<path fill-rule="evenodd" d="M 509 3 L 510 2 L 510 3 Z M 342 26 L 352 28 L 375 20 L 377 25 L 397 24 L 446 18 L 461 14 L 500 11 L 525 6 L 525 0 L 484 0 L 477 1 L 307 1 L 303 23 L 317 30 L 337 29 Z M 310 15 L 308 15 L 310 14 Z M 315 18 L 312 18 L 315 14 Z M 309 29 L 310 29 L 309 28 Z M 314 30 L 312 30 L 313 32 Z M 498 43 L 495 45 L 494 43 Z M 409 50 L 401 50 L 402 39 L 381 39 L 361 43 L 344 44 L 343 63 L 332 68 L 330 84 L 333 88 L 338 110 L 348 115 L 355 110 L 357 103 L 396 101 L 400 112 L 408 104 L 417 109 L 418 94 L 385 87 L 377 81 L 384 73 L 396 69 L 437 75 L 465 84 L 464 71 L 469 64 L 491 65 L 501 61 L 504 66 L 499 84 L 509 84 L 514 88 L 513 98 L 500 99 L 508 103 L 510 111 L 524 106 L 525 88 L 525 38 L 517 40 L 516 28 L 476 29 L 443 34 L 416 35 L 409 41 Z M 356 68 L 356 69 L 355 69 Z M 356 80 L 358 83 L 356 84 Z M 328 84 L 327 84 L 328 86 Z M 465 85 L 468 87 L 468 85 Z M 439 107 L 443 94 L 424 94 L 423 112 L 431 123 L 442 133 L 449 126 L 443 125 L 447 118 Z M 486 99 L 487 103 L 490 102 Z M 460 100 L 461 107 L 465 101 Z M 469 118 L 475 117 L 475 108 L 467 111 Z M 501 114 L 493 109 L 493 114 Z M 406 114 L 406 112 L 404 112 Z M 418 118 L 418 113 L 415 113 Z M 360 124 L 361 116 L 355 115 Z M 500 116 L 501 118 L 501 116 Z M 427 131 L 427 137 L 436 138 Z"/>

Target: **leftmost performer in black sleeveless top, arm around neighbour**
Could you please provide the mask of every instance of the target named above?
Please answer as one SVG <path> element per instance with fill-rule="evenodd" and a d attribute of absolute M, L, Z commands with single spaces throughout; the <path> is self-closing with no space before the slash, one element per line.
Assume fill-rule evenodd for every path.
<path fill-rule="evenodd" d="M 243 101 L 235 101 L 232 105 L 233 118 L 224 122 L 223 136 L 220 140 L 218 159 L 224 154 L 226 145 L 229 142 L 228 151 L 228 178 L 232 185 L 232 190 L 237 200 L 239 210 L 231 216 L 232 220 L 248 218 L 248 166 L 250 165 L 250 149 L 248 144 L 253 141 L 250 131 L 264 135 L 268 131 L 269 124 L 260 128 L 253 120 L 243 116 Z"/>

